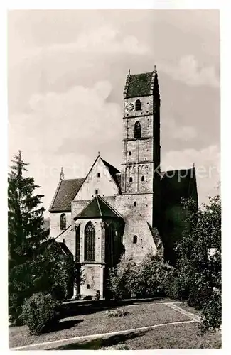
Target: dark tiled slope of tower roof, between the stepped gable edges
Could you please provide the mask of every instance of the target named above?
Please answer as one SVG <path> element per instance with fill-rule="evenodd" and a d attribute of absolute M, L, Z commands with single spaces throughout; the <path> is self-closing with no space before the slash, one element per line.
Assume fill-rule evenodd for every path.
<path fill-rule="evenodd" d="M 150 95 L 152 75 L 152 72 L 130 75 L 127 97 Z"/>

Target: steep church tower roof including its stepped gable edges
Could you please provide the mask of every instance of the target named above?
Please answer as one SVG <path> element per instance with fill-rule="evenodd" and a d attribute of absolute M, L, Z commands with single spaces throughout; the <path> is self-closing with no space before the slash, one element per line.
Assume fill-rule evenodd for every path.
<path fill-rule="evenodd" d="M 156 67 L 153 72 L 143 72 L 141 74 L 127 75 L 124 88 L 124 98 L 142 97 L 156 95 L 159 98 L 159 84 Z"/>

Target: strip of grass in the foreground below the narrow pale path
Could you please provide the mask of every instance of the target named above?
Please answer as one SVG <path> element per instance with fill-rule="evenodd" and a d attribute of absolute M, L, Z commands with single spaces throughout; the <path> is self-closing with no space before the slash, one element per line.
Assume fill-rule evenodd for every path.
<path fill-rule="evenodd" d="M 154 330 L 131 332 L 100 339 L 73 342 L 63 345 L 46 344 L 43 350 L 143 350 L 143 349 L 220 349 L 220 332 L 200 335 L 198 323 L 174 324 Z M 32 348 L 31 348 L 32 349 Z M 39 348 L 38 348 L 39 349 Z"/>

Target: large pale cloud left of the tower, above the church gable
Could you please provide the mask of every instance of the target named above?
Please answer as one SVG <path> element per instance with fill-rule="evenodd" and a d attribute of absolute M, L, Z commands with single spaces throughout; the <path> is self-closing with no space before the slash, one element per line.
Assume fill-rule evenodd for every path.
<path fill-rule="evenodd" d="M 107 102 L 111 90 L 112 84 L 104 81 L 63 93 L 33 94 L 28 113 L 9 117 L 9 156 L 22 150 L 30 175 L 46 195 L 45 207 L 53 197 L 60 166 L 66 178 L 85 176 L 99 146 L 107 153 L 122 136 L 121 108 Z"/>

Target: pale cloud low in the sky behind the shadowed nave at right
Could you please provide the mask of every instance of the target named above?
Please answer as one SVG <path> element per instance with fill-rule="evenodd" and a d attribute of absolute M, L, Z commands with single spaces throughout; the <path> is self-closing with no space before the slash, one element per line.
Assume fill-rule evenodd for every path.
<path fill-rule="evenodd" d="M 218 146 L 208 146 L 201 150 L 185 149 L 168 151 L 163 154 L 161 169 L 187 169 L 195 164 L 198 183 L 199 202 L 206 202 L 209 195 L 217 193 L 217 183 L 220 182 L 220 149 Z"/>

